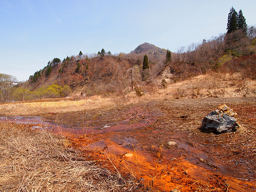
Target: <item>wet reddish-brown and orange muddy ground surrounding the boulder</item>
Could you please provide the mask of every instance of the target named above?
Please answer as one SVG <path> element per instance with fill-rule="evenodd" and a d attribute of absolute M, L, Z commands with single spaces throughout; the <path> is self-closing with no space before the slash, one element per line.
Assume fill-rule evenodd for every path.
<path fill-rule="evenodd" d="M 238 113 L 241 128 L 201 132 L 201 119 L 222 104 Z M 7 120 L 67 134 L 136 177 L 140 191 L 256 191 L 256 99 L 166 99 Z"/>

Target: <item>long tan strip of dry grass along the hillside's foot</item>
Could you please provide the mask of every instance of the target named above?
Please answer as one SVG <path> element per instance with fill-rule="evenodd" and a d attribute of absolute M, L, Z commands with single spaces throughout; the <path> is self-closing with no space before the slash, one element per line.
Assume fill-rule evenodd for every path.
<path fill-rule="evenodd" d="M 45 113 L 67 113 L 98 108 L 116 108 L 150 100 L 255 97 L 256 81 L 244 79 L 241 73 L 212 73 L 192 77 L 166 85 L 166 89 L 154 89 L 147 85 L 143 97 L 136 93 L 122 96 L 90 96 L 80 99 L 39 99 L 32 102 L 14 102 L 0 105 L 0 116 L 40 116 Z M 151 90 L 153 89 L 153 90 Z"/>

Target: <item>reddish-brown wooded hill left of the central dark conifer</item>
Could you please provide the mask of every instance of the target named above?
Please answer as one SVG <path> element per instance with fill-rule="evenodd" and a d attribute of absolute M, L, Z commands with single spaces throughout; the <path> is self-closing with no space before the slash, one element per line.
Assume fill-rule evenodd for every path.
<path fill-rule="evenodd" d="M 81 95 L 107 94 L 124 91 L 131 83 L 131 69 L 139 69 L 137 61 L 111 55 L 88 58 L 71 56 L 39 70 L 29 78 L 28 85 L 38 87 L 58 84 L 79 90 Z M 50 70 L 49 70 L 50 69 Z M 133 71 L 135 74 L 135 70 Z M 81 91 L 80 91 L 81 90 Z"/>

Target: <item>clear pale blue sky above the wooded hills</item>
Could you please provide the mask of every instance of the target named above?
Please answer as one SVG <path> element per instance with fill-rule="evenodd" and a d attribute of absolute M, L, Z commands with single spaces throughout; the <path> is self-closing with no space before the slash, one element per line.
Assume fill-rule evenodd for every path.
<path fill-rule="evenodd" d="M 226 32 L 230 7 L 256 25 L 255 0 L 0 0 L 0 73 L 27 80 L 53 58 L 178 47 Z"/>

